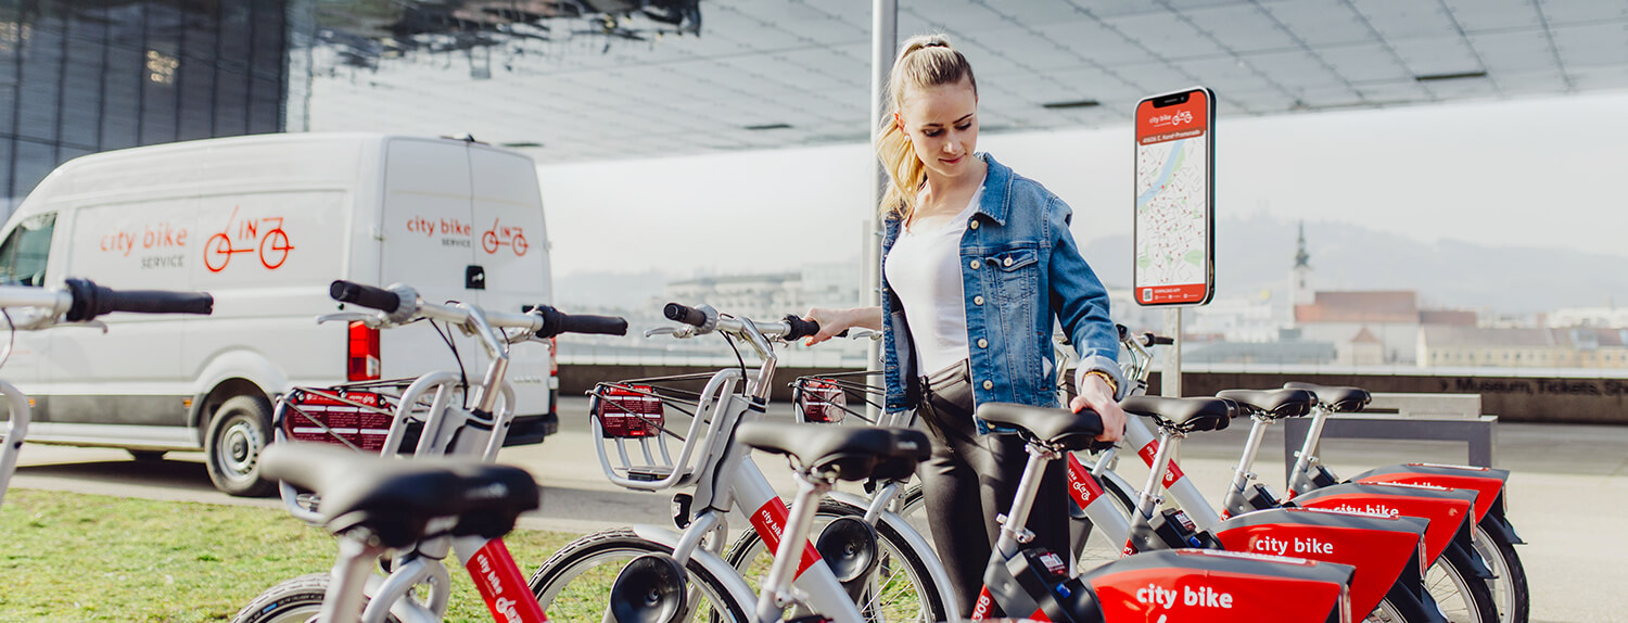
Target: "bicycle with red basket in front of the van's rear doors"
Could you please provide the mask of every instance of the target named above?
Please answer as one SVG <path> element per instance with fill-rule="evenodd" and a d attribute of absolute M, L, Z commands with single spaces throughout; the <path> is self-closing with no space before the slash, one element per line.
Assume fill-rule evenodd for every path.
<path fill-rule="evenodd" d="M 417 291 L 405 285 L 374 288 L 350 281 L 334 281 L 329 288 L 329 294 L 337 301 L 374 309 L 376 312 L 329 314 L 319 317 L 319 322 L 361 320 L 376 327 L 400 327 L 417 320 L 441 320 L 472 332 L 480 338 L 480 343 L 487 350 L 490 358 L 487 371 L 477 384 L 469 384 L 467 390 L 464 389 L 462 372 L 436 371 L 417 377 L 400 395 L 386 400 L 394 402 L 396 407 L 391 416 L 389 433 L 379 444 L 376 454 L 394 457 L 399 452 L 404 452 L 409 431 L 418 426 L 418 441 L 410 452 L 405 452 L 412 457 L 412 462 L 423 459 L 462 457 L 490 464 L 497 457 L 497 452 L 503 446 L 503 439 L 508 434 L 508 425 L 513 418 L 513 392 L 505 390 L 510 345 L 527 340 L 545 342 L 567 332 L 609 335 L 624 335 L 627 332 L 627 320 L 624 319 L 563 314 L 549 306 L 537 306 L 524 314 L 513 314 L 487 311 L 469 303 L 435 304 L 423 301 Z M 363 384 L 360 394 L 357 394 L 355 384 L 340 386 L 340 389 L 332 390 L 301 390 L 357 410 L 370 407 L 378 412 L 378 402 L 370 399 L 368 402 L 373 402 L 370 405 L 368 402 L 357 400 L 361 395 L 378 395 L 378 392 L 370 392 L 370 389 L 376 389 L 376 386 Z M 454 403 L 453 399 L 457 394 L 464 394 L 467 403 Z M 288 412 L 296 413 L 291 415 Z M 287 399 L 278 403 L 280 423 L 277 431 L 280 438 L 277 442 L 267 446 L 265 452 L 285 444 L 303 444 L 300 441 L 288 441 L 287 438 L 282 438 L 282 433 L 288 428 L 283 423 L 287 421 L 285 418 L 293 418 L 298 412 L 298 405 L 291 405 Z M 322 426 L 317 428 L 327 428 L 330 433 L 337 433 L 332 426 L 327 426 L 316 418 L 309 418 L 309 423 L 319 423 Z M 350 446 L 345 449 L 335 447 L 335 452 L 348 455 L 370 454 L 357 452 L 358 447 L 345 442 L 344 436 L 337 439 L 340 442 L 326 446 Z M 402 467 L 402 470 L 412 470 L 412 467 Z M 384 621 L 386 616 L 392 616 L 392 620 L 397 621 L 438 621 L 446 613 L 446 603 L 451 594 L 449 574 L 446 566 L 441 563 L 449 553 L 456 553 L 459 561 L 464 563 L 470 573 L 480 574 L 475 586 L 482 589 L 482 595 L 487 597 L 487 605 L 495 618 L 503 620 L 503 616 L 519 616 L 508 620 L 544 620 L 540 610 L 532 612 L 532 608 L 536 608 L 536 602 L 529 599 L 514 600 L 513 597 L 501 597 L 500 602 L 493 597 L 498 594 L 526 594 L 524 576 L 518 569 L 513 574 L 506 571 L 506 568 L 513 568 L 514 563 L 513 558 L 510 558 L 508 550 L 503 547 L 501 538 L 498 538 L 501 534 L 506 534 L 510 527 L 513 527 L 513 522 L 508 522 L 508 527 L 498 534 L 493 534 L 492 530 L 474 534 L 461 532 L 454 525 L 446 525 L 446 521 L 431 521 L 436 517 L 444 519 L 436 512 L 457 514 L 461 512 L 459 508 L 438 509 L 430 503 L 409 498 L 400 503 L 417 504 L 407 508 L 409 511 L 417 512 L 417 516 L 383 517 L 389 514 L 386 512 L 389 504 L 381 504 L 378 508 L 365 508 L 361 511 L 378 512 L 381 517 L 370 521 L 384 524 L 352 525 L 348 524 L 347 514 L 335 511 L 334 506 L 348 503 L 353 496 L 361 496 L 361 493 L 353 488 L 337 485 L 345 498 L 335 501 L 332 494 L 321 494 L 322 486 L 335 486 L 334 483 L 326 483 L 322 480 L 326 477 L 319 478 L 306 472 L 298 472 L 291 467 L 287 473 L 293 477 L 280 478 L 283 481 L 278 483 L 278 490 L 283 496 L 283 506 L 290 514 L 309 524 L 329 525 L 335 530 L 335 534 L 357 527 L 365 530 L 358 532 L 355 535 L 357 538 L 342 538 L 340 561 L 335 564 L 334 574 L 301 576 L 277 584 L 239 610 L 234 621 L 304 621 L 313 613 L 319 612 L 319 620 L 322 621 L 339 621 L 340 618 L 334 618 L 335 613 L 344 613 L 344 620 L 350 621 L 357 620 L 355 616 L 358 610 L 361 620 L 368 623 Z M 526 478 L 529 481 L 529 477 Z M 316 494 L 300 494 L 298 488 L 301 486 L 316 491 Z M 531 508 L 536 508 L 536 485 L 531 485 Z M 386 488 L 379 494 L 394 493 Z M 479 508 L 474 511 L 479 511 Z M 518 514 L 519 511 L 514 512 Z M 389 524 L 392 521 L 407 519 L 414 522 Z M 396 532 L 384 534 L 381 532 L 384 529 L 392 529 Z M 378 538 L 379 542 L 373 543 L 370 538 Z M 387 574 L 384 577 L 366 576 L 368 561 L 381 560 L 386 553 L 394 553 L 394 556 L 383 564 Z M 477 569 L 472 564 L 480 564 L 480 568 Z M 492 564 L 497 566 L 493 568 Z M 492 569 L 503 571 L 498 573 Z M 492 573 L 498 573 L 498 576 L 490 576 Z M 418 590 L 420 587 L 422 590 Z M 490 595 L 487 594 L 488 590 L 492 592 Z M 361 608 L 363 602 L 366 602 L 366 610 Z"/>

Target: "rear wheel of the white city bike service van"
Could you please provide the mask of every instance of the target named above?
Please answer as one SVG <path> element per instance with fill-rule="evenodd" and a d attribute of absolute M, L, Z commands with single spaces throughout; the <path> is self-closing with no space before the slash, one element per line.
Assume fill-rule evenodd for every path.
<path fill-rule="evenodd" d="M 226 399 L 208 423 L 204 457 L 215 488 L 241 498 L 269 496 L 277 483 L 260 480 L 260 451 L 272 442 L 272 405 L 264 397 Z"/>

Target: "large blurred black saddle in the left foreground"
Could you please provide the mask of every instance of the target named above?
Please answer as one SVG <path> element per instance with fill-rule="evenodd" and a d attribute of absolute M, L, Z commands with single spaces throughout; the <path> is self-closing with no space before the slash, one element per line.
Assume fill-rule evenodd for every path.
<path fill-rule="evenodd" d="M 435 517 L 457 517 L 454 535 L 501 537 L 540 503 L 537 481 L 518 467 L 386 459 L 298 441 L 267 446 L 260 477 L 316 491 L 330 532 L 365 527 L 384 547 L 423 540 Z"/>

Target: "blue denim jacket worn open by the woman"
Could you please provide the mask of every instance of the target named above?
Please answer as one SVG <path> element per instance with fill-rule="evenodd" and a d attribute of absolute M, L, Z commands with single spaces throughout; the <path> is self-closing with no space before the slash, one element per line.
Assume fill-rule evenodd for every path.
<path fill-rule="evenodd" d="M 961 236 L 974 400 L 1057 405 L 1053 319 L 1074 343 L 1079 369 L 1110 374 L 1123 392 L 1109 294 L 1068 233 L 1073 210 L 993 156 L 983 159 L 990 166 L 983 198 Z M 884 262 L 899 239 L 900 221 L 889 218 L 886 224 Z M 917 379 L 934 371 L 917 369 L 904 306 L 882 273 L 886 405 L 897 412 L 917 405 Z M 982 421 L 978 426 L 987 431 Z"/>

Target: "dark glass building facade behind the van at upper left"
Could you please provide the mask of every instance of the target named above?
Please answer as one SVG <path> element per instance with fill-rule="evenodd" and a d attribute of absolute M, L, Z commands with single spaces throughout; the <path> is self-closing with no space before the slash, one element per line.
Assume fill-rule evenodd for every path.
<path fill-rule="evenodd" d="M 83 155 L 287 130 L 290 3 L 0 3 L 5 215 Z"/>

